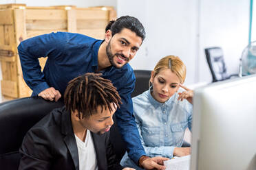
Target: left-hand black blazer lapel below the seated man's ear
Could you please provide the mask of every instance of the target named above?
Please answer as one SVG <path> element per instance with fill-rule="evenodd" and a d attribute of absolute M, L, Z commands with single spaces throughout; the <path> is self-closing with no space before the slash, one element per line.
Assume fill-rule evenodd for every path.
<path fill-rule="evenodd" d="M 70 151 L 70 155 L 74 162 L 76 170 L 79 170 L 79 158 L 78 158 L 78 149 L 76 146 L 76 138 L 74 136 L 71 115 L 70 112 L 63 111 L 62 120 L 61 120 L 61 132 L 63 135 L 63 140 L 67 145 L 67 149 Z"/>

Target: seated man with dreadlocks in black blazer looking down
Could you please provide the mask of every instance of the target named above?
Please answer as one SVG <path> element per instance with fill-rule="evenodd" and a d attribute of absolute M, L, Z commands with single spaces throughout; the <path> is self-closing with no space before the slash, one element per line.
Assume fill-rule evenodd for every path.
<path fill-rule="evenodd" d="M 81 75 L 69 82 L 64 99 L 63 108 L 25 135 L 19 169 L 122 169 L 108 140 L 112 116 L 122 104 L 111 81 Z"/>

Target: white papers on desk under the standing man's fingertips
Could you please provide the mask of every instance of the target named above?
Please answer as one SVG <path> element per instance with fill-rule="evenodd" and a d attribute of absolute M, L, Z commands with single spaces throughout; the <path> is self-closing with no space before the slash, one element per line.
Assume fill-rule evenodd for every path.
<path fill-rule="evenodd" d="M 177 157 L 164 161 L 166 170 L 189 170 L 190 155 Z"/>

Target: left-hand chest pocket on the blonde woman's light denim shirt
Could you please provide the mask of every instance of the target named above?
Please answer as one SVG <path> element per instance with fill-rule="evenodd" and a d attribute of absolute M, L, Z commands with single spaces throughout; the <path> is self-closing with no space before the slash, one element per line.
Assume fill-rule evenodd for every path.
<path fill-rule="evenodd" d="M 148 147 L 156 147 L 160 143 L 160 127 L 142 127 L 143 141 Z"/>

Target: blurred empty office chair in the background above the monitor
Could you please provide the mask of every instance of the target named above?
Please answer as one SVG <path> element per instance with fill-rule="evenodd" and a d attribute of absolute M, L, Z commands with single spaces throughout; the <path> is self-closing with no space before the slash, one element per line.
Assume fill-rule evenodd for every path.
<path fill-rule="evenodd" d="M 213 77 L 212 82 L 230 79 L 231 77 L 239 77 L 238 74 L 228 75 L 222 48 L 211 47 L 204 49 L 206 60 Z"/>

